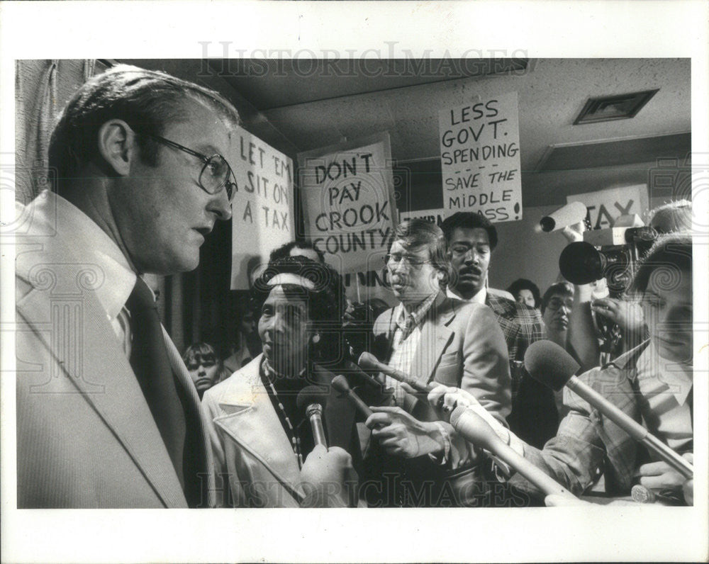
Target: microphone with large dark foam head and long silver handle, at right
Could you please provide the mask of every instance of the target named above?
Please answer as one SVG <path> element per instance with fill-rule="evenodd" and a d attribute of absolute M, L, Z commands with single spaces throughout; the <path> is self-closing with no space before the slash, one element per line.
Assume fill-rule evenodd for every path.
<path fill-rule="evenodd" d="M 576 378 L 574 374 L 579 370 L 579 364 L 558 344 L 551 341 L 537 341 L 530 344 L 525 352 L 525 368 L 532 378 L 549 388 L 559 391 L 566 386 L 574 391 L 623 429 L 632 439 L 647 446 L 685 478 L 692 478 L 694 475 L 694 466 L 685 458 L 679 456 L 632 417 L 615 407 L 591 386 Z"/>

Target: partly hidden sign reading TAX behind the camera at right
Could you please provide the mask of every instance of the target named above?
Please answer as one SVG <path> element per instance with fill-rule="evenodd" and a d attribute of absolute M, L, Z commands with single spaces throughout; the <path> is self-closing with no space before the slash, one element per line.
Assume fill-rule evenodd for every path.
<path fill-rule="evenodd" d="M 566 203 L 569 202 L 581 202 L 586 206 L 586 219 L 591 229 L 613 227 L 615 220 L 621 215 L 637 213 L 644 219 L 649 205 L 647 184 L 566 196 Z"/>

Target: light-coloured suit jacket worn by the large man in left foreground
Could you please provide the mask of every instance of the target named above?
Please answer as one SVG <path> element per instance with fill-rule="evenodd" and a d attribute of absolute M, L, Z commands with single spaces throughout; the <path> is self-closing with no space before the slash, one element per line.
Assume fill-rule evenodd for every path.
<path fill-rule="evenodd" d="M 16 237 L 18 507 L 186 507 L 138 380 L 94 293 L 101 269 L 77 261 L 51 218 L 34 216 L 31 224 Z M 164 336 L 179 383 L 199 406 Z M 201 427 L 206 507 L 211 451 Z"/>

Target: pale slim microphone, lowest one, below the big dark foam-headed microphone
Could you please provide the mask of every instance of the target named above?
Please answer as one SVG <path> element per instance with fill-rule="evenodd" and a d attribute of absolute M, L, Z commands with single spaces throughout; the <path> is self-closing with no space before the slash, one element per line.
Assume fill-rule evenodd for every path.
<path fill-rule="evenodd" d="M 467 441 L 493 453 L 494 456 L 497 456 L 501 461 L 517 470 L 527 480 L 542 490 L 545 495 L 576 497 L 554 478 L 545 474 L 540 468 L 534 466 L 534 464 L 506 445 L 494 432 L 493 428 L 487 424 L 485 419 L 474 411 L 459 405 L 450 416 L 450 424 Z"/>

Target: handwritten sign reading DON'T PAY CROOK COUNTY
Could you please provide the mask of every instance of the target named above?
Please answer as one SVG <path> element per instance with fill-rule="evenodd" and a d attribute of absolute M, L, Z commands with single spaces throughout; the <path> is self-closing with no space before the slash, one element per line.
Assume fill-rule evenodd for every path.
<path fill-rule="evenodd" d="M 381 266 L 393 228 L 389 135 L 379 137 L 298 157 L 306 237 L 322 252 L 341 256 L 344 272 Z"/>

